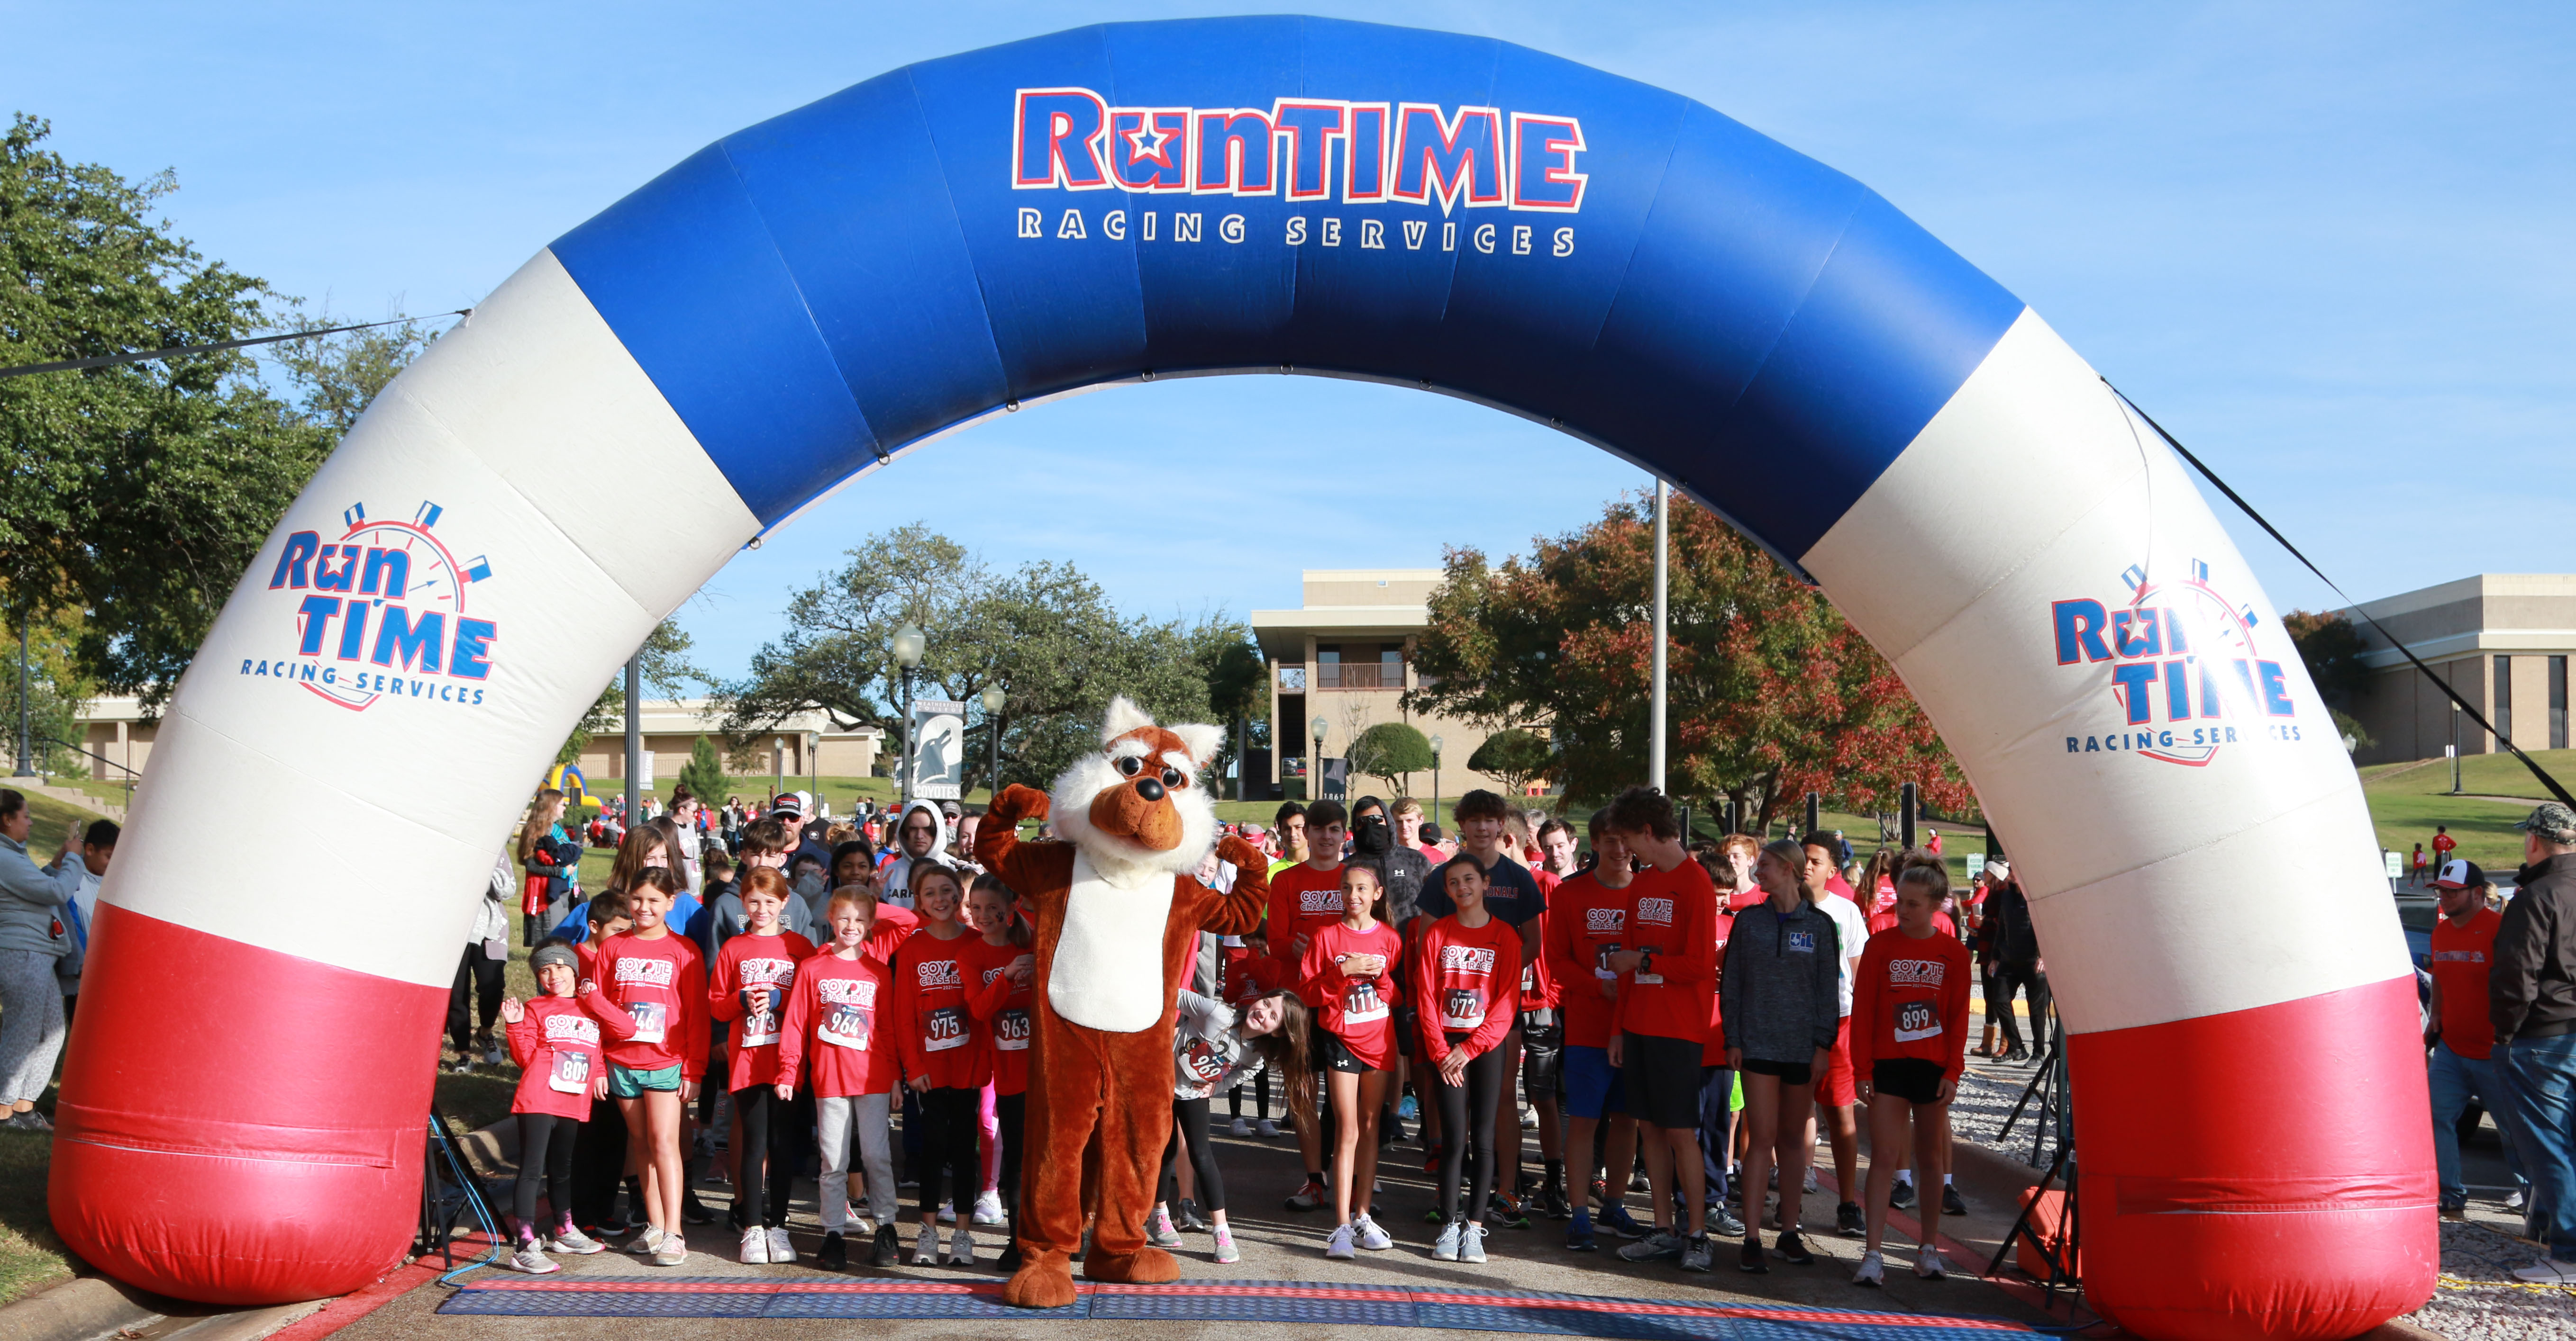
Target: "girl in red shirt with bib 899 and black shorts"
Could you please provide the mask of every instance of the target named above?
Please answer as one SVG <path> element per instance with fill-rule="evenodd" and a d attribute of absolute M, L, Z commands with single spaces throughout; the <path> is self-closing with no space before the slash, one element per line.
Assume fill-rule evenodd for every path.
<path fill-rule="evenodd" d="M 1896 927 L 1870 937 L 1852 973 L 1852 1071 L 1870 1104 L 1870 1189 L 1862 1207 L 1870 1238 L 1852 1284 L 1880 1284 L 1878 1243 L 1888 1230 L 1888 1192 L 1896 1187 L 1896 1151 L 1914 1151 L 1914 1171 L 1927 1179 L 1950 1169 L 1950 1096 L 1968 1066 L 1968 947 L 1932 927 L 1950 896 L 1950 875 L 1937 865 L 1911 865 L 1896 875 Z M 1909 1130 L 1911 1127 L 1911 1130 Z M 1950 1264 L 1927 1235 L 1914 1251 L 1914 1274 L 1942 1279 Z"/>

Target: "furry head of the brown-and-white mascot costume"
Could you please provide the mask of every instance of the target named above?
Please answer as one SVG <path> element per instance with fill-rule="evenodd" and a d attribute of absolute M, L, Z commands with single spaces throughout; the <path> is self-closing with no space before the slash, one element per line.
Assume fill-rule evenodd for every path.
<path fill-rule="evenodd" d="M 1048 818 L 1105 875 L 1198 870 L 1216 847 L 1216 798 L 1200 772 L 1224 739 L 1221 726 L 1154 726 L 1126 695 L 1113 698 L 1100 754 L 1056 777 Z"/>

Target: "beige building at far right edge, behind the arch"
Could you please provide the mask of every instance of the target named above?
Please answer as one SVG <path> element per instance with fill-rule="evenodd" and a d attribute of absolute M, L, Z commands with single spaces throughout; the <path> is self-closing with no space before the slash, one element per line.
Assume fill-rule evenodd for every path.
<path fill-rule="evenodd" d="M 2406 664 L 2391 638 L 2522 749 L 2568 749 L 2568 656 L 2576 656 L 2576 574 L 2478 574 L 2419 592 L 2367 600 L 2388 636 L 2352 618 L 2367 651 L 2370 687 L 2354 718 L 2372 744 L 2354 762 L 2439 759 L 2501 749 L 2439 687 Z M 2352 610 L 2347 610 L 2352 615 Z M 2458 721 L 2455 721 L 2458 718 Z"/>

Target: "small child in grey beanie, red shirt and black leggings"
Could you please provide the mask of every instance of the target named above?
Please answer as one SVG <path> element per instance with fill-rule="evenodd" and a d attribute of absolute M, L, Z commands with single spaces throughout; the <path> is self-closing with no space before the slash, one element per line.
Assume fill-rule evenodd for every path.
<path fill-rule="evenodd" d="M 502 999 L 500 1017 L 510 1024 L 510 1060 L 518 1063 L 518 1197 L 510 1220 L 518 1248 L 510 1266 L 528 1274 L 556 1272 L 546 1253 L 595 1253 L 603 1246 L 572 1225 L 574 1133 L 590 1117 L 592 1094 L 608 1094 L 608 1063 L 600 1037 L 626 1037 L 636 1022 L 592 986 L 582 986 L 582 960 L 562 939 L 549 937 L 528 955 L 538 996 L 526 1006 Z M 554 1207 L 554 1233 L 536 1233 L 536 1184 L 546 1181 Z"/>

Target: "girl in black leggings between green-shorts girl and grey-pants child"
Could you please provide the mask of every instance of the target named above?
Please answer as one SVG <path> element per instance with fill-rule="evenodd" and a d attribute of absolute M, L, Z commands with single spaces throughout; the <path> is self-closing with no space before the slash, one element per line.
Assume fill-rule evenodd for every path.
<path fill-rule="evenodd" d="M 778 1027 L 786 1014 L 796 965 L 814 955 L 814 942 L 781 927 L 788 898 L 786 875 L 773 867 L 747 867 L 742 875 L 742 934 L 724 942 L 708 976 L 708 1012 L 734 1024 L 726 1091 L 734 1096 L 734 1138 L 742 1153 L 737 1189 L 742 1194 L 742 1261 L 796 1261 L 788 1241 L 788 1192 L 796 1187 L 796 1158 L 788 1153 L 814 1125 L 814 1112 L 793 1099 L 773 1099 L 778 1084 Z M 762 1166 L 768 1176 L 762 1179 Z"/>

